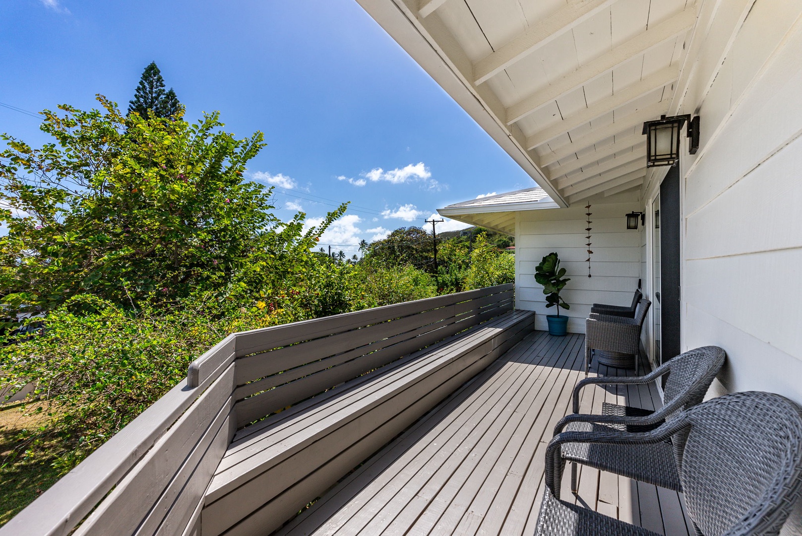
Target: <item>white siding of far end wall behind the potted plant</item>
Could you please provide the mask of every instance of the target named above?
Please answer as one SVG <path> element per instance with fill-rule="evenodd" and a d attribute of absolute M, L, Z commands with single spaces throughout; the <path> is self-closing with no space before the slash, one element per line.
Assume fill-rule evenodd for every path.
<path fill-rule="evenodd" d="M 516 307 L 537 311 L 536 329 L 547 329 L 545 315 L 555 314 L 553 307 L 546 309 L 543 287 L 534 277 L 535 266 L 552 251 L 559 254 L 561 266 L 571 278 L 562 293 L 571 309 L 561 310 L 561 314 L 569 315 L 569 331 L 585 332 L 585 319 L 593 303 L 630 305 L 632 302 L 632 293 L 641 277 L 643 233 L 626 229 L 625 214 L 641 210 L 641 205 L 637 201 L 613 204 L 591 201 L 591 205 L 591 278 L 585 262 L 588 254 L 584 206 L 518 213 Z"/>

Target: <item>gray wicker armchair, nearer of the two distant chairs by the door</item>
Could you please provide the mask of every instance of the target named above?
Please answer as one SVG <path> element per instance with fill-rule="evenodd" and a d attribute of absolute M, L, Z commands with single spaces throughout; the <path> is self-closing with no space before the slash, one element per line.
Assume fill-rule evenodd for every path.
<path fill-rule="evenodd" d="M 650 305 L 649 300 L 641 298 L 632 319 L 590 314 L 590 318 L 585 320 L 585 376 L 588 376 L 593 350 L 605 352 L 603 360 L 599 356 L 599 363 L 621 368 L 634 366 L 637 370 L 641 355 L 641 328 Z"/>

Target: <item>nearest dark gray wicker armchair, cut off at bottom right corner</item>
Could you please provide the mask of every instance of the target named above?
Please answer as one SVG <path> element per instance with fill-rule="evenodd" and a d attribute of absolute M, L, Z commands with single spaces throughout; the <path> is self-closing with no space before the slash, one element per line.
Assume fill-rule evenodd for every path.
<path fill-rule="evenodd" d="M 780 395 L 739 392 L 703 402 L 661 427 L 632 434 L 563 432 L 546 449 L 546 489 L 535 534 L 646 534 L 648 530 L 560 501 L 563 445 L 658 445 L 687 437 L 678 457 L 687 513 L 698 534 L 778 534 L 802 495 L 802 408 Z"/>

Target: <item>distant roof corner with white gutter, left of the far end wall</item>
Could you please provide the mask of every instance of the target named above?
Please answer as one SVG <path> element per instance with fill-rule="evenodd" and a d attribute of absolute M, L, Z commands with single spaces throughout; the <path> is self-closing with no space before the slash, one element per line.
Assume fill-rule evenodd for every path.
<path fill-rule="evenodd" d="M 557 209 L 559 206 L 542 188 L 527 188 L 462 201 L 437 209 L 437 212 L 471 225 L 514 234 L 515 213 L 519 210 Z"/>

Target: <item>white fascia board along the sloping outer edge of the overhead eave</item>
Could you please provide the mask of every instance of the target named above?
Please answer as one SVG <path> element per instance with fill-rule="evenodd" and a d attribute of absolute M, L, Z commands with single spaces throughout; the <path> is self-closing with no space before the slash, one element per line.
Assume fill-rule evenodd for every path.
<path fill-rule="evenodd" d="M 512 156 L 512 160 L 515 160 L 558 206 L 568 207 L 568 202 L 551 185 L 545 173 L 537 167 L 523 145 L 508 131 L 507 125 L 504 124 L 505 118 L 496 118 L 490 112 L 471 83 L 448 61 L 447 55 L 440 50 L 435 40 L 427 35 L 426 30 L 415 18 L 415 14 L 402 0 L 357 0 L 357 2 L 465 112 L 468 112 L 484 132 Z"/>

